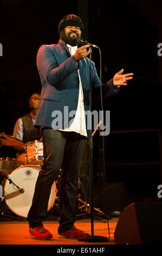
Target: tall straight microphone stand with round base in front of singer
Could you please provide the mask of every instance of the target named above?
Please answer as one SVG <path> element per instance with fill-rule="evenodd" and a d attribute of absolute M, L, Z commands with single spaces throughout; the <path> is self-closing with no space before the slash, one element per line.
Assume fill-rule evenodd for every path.
<path fill-rule="evenodd" d="M 89 95 L 89 105 L 90 113 L 92 113 L 92 46 L 89 44 L 89 75 L 90 75 L 90 95 Z M 88 121 L 88 120 L 87 120 Z M 89 242 L 108 242 L 105 236 L 94 235 L 94 218 L 93 218 L 93 139 L 92 139 L 92 115 L 90 118 L 90 138 L 89 138 L 89 156 L 90 156 L 90 217 L 91 217 L 91 235 L 83 236 L 78 239 L 78 241 L 89 241 Z"/>

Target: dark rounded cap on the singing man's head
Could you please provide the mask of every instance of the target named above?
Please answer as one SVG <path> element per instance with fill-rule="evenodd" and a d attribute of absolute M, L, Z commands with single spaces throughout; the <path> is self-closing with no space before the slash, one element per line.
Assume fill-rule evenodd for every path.
<path fill-rule="evenodd" d="M 76 16 L 74 14 L 69 14 L 64 16 L 64 18 L 60 21 L 59 23 L 59 33 L 62 28 L 67 27 L 67 26 L 75 26 L 79 27 L 81 29 L 81 32 L 84 29 L 84 25 L 80 19 L 79 16 Z"/>

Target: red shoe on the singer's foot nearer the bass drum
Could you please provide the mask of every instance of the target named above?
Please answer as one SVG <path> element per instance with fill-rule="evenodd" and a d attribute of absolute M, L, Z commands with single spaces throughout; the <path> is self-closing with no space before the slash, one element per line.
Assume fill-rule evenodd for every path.
<path fill-rule="evenodd" d="M 53 235 L 43 226 L 29 228 L 29 233 L 31 236 L 33 236 L 32 237 L 33 239 L 38 239 L 38 240 L 48 240 L 53 237 Z"/>

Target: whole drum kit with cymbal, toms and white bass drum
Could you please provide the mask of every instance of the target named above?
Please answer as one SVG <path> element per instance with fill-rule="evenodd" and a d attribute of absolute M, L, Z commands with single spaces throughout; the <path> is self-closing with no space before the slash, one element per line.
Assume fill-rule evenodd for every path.
<path fill-rule="evenodd" d="M 22 146 L 24 143 L 13 136 L 0 133 L 0 147 Z M 42 141 L 25 143 L 25 153 L 15 158 L 0 158 L 0 215 L 7 208 L 21 218 L 27 218 L 30 209 L 38 173 L 43 165 Z M 51 187 L 48 211 L 55 202 L 57 193 L 56 182 Z"/>

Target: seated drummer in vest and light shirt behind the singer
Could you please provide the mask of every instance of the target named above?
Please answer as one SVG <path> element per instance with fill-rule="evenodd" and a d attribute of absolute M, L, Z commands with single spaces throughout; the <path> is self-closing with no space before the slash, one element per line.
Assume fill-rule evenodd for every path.
<path fill-rule="evenodd" d="M 38 109 L 40 107 L 40 94 L 34 93 L 29 98 L 30 113 L 23 115 L 23 117 L 17 119 L 13 136 L 24 142 L 21 146 L 16 146 L 14 149 L 17 151 L 17 155 L 25 152 L 25 143 L 34 141 L 35 139 L 41 139 L 40 133 L 34 127 L 34 121 Z"/>

